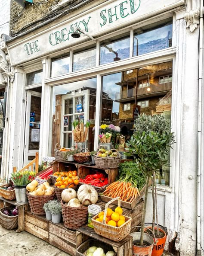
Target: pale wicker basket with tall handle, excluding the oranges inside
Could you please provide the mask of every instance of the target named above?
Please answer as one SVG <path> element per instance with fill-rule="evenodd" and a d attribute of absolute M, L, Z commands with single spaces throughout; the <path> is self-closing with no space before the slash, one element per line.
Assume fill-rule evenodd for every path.
<path fill-rule="evenodd" d="M 118 200 L 118 207 L 120 207 L 121 198 L 117 197 L 112 199 L 105 205 L 105 213 L 104 213 L 103 221 L 102 222 L 96 221 L 96 219 L 98 218 L 98 214 L 97 214 L 92 218 L 92 223 L 93 223 L 94 231 L 96 232 L 96 234 L 99 234 L 100 236 L 108 238 L 115 242 L 120 242 L 130 234 L 132 218 L 124 216 L 126 222 L 123 225 L 121 225 L 121 227 L 113 227 L 105 223 L 108 205 L 111 205 L 111 203 L 114 202 L 115 200 Z"/>

